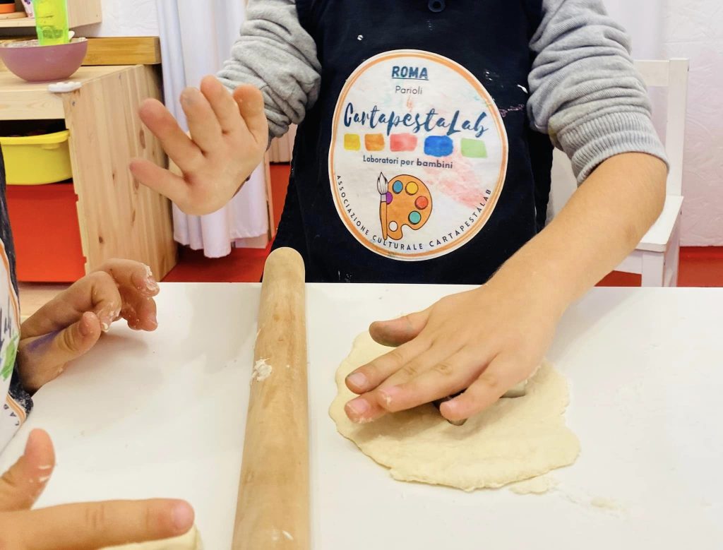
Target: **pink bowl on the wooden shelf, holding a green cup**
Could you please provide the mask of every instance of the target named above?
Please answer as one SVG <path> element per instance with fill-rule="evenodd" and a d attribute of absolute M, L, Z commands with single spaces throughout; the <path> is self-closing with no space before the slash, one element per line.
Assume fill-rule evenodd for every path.
<path fill-rule="evenodd" d="M 57 82 L 80 69 L 88 43 L 74 38 L 71 43 L 38 46 L 38 40 L 7 42 L 0 46 L 0 59 L 7 68 L 27 82 Z"/>

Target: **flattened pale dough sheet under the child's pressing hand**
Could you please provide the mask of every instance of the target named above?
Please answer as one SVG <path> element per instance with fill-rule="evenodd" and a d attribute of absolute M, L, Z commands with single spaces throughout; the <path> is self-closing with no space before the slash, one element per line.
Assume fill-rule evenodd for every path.
<path fill-rule="evenodd" d="M 529 379 L 526 395 L 502 398 L 463 426 L 450 424 L 434 405 L 354 424 L 344 413 L 354 398 L 344 379 L 389 349 L 368 333 L 356 338 L 336 372 L 338 395 L 329 413 L 339 433 L 393 478 L 473 491 L 542 476 L 578 457 L 580 444 L 563 416 L 568 384 L 549 363 Z"/>

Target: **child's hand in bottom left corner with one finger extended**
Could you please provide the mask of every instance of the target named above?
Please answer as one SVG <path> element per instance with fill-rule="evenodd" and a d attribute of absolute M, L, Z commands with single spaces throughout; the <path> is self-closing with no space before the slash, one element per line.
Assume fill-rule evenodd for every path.
<path fill-rule="evenodd" d="M 90 550 L 180 536 L 193 526 L 193 509 L 181 500 L 93 502 L 31 512 L 54 466 L 50 437 L 32 431 L 24 455 L 0 478 L 0 548 Z"/>

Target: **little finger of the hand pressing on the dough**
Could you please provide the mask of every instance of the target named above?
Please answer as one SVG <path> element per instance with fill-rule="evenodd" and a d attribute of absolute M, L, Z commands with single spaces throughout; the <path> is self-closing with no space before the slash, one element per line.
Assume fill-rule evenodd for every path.
<path fill-rule="evenodd" d="M 466 420 L 484 411 L 521 381 L 520 364 L 513 358 L 497 356 L 466 392 L 440 405 L 442 416 L 451 421 Z"/>

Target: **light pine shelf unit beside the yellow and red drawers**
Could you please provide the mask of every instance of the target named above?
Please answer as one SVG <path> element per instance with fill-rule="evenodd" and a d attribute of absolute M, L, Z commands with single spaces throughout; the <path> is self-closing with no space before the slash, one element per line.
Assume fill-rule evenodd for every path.
<path fill-rule="evenodd" d="M 160 143 L 137 114 L 142 100 L 161 98 L 158 72 L 87 66 L 70 80 L 80 90 L 54 94 L 47 84 L 0 72 L 0 121 L 64 119 L 86 272 L 120 257 L 145 262 L 163 278 L 176 265 L 171 204 L 134 181 L 128 168 L 135 157 L 166 166 Z"/>

